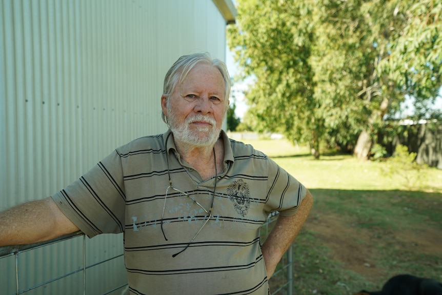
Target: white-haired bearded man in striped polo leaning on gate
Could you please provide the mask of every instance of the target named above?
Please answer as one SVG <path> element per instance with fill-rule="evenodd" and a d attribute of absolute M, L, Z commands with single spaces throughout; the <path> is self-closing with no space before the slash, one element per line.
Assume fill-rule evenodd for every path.
<path fill-rule="evenodd" d="M 221 130 L 229 94 L 223 62 L 180 57 L 161 96 L 169 130 L 117 148 L 50 198 L 3 212 L 0 245 L 124 232 L 131 294 L 267 294 L 312 196 Z M 273 211 L 279 218 L 261 245 Z"/>

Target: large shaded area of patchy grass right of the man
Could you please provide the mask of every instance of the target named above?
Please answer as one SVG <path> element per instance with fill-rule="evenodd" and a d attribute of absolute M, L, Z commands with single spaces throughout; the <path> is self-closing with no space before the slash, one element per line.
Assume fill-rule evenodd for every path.
<path fill-rule="evenodd" d="M 310 191 L 294 243 L 295 294 L 375 291 L 399 273 L 442 279 L 442 193 Z"/>

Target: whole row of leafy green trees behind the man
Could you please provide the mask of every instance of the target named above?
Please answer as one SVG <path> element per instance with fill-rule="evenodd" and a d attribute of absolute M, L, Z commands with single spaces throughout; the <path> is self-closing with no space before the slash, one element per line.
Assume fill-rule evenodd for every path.
<path fill-rule="evenodd" d="M 441 87 L 442 0 L 237 0 L 228 42 L 253 76 L 248 124 L 367 159 L 385 120 L 414 97 L 415 118 Z"/>

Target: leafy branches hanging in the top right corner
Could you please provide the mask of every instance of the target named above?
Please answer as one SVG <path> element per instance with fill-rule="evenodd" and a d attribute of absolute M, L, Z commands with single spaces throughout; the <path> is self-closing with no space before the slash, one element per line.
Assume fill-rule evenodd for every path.
<path fill-rule="evenodd" d="M 437 96 L 442 74 L 442 1 L 424 0 L 400 11 L 405 26 L 387 46 L 379 71 L 417 106 Z"/>

